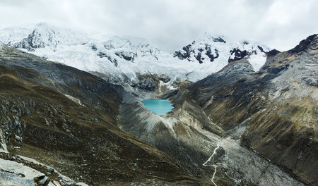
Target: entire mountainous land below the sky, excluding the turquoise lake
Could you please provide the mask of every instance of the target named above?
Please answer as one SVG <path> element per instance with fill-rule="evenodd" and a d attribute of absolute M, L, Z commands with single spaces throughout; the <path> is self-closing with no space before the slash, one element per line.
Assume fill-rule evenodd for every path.
<path fill-rule="evenodd" d="M 167 52 L 39 23 L 0 42 L 0 185 L 318 185 L 318 35 Z"/>

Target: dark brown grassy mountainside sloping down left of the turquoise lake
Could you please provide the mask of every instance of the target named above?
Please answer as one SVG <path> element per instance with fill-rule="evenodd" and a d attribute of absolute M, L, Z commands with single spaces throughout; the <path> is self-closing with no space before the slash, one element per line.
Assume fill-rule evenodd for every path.
<path fill-rule="evenodd" d="M 168 156 L 117 128 L 120 87 L 8 46 L 0 49 L 0 87 L 1 183 L 34 185 L 30 176 L 45 173 L 51 185 L 75 184 L 59 171 L 89 185 L 196 184 Z"/>

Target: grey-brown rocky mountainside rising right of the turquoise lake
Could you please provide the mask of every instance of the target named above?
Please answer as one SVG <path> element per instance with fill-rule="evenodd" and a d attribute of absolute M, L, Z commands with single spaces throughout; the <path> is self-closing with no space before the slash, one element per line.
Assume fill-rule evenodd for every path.
<path fill-rule="evenodd" d="M 192 99 L 242 145 L 294 178 L 317 185 L 318 37 L 268 55 L 259 73 L 245 59 L 188 87 Z"/>

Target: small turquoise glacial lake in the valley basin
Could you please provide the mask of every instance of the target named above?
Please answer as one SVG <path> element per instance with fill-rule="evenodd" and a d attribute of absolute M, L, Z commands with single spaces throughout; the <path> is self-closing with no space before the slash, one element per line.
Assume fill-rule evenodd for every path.
<path fill-rule="evenodd" d="M 172 103 L 167 99 L 145 99 L 141 103 L 157 115 L 163 115 L 173 109 Z"/>

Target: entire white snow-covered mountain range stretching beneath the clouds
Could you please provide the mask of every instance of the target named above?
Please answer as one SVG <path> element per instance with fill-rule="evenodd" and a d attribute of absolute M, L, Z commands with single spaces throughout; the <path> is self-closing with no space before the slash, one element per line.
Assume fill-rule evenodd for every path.
<path fill-rule="evenodd" d="M 110 36 L 54 27 L 39 23 L 33 28 L 0 30 L 0 41 L 52 61 L 81 70 L 97 71 L 115 79 L 130 80 L 136 73 L 167 75 L 195 82 L 221 70 L 229 62 L 248 58 L 254 70 L 264 65 L 269 48 L 254 42 L 235 41 L 222 35 L 205 34 L 170 54 L 147 39 Z"/>

